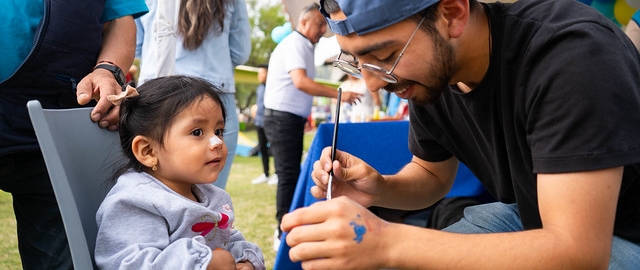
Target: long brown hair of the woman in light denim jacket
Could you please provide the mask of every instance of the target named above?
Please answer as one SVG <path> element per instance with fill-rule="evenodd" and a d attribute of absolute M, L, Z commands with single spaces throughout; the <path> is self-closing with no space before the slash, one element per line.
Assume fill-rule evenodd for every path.
<path fill-rule="evenodd" d="M 231 0 L 181 0 L 178 33 L 182 46 L 197 49 L 213 27 L 216 33 L 222 33 L 228 5 L 233 5 Z"/>

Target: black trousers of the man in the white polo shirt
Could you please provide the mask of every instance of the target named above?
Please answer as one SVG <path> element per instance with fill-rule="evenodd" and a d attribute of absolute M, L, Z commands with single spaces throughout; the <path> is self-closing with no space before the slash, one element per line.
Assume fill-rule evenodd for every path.
<path fill-rule="evenodd" d="M 306 118 L 295 114 L 265 110 L 264 130 L 270 143 L 275 173 L 278 175 L 276 191 L 278 231 L 280 231 L 282 217 L 289 212 L 298 183 L 306 122 Z"/>

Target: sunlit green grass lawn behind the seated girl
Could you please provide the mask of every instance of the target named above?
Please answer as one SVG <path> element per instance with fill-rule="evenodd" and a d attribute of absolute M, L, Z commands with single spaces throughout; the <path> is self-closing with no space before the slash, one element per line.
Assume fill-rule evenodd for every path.
<path fill-rule="evenodd" d="M 255 131 L 245 131 L 257 142 Z M 315 130 L 307 132 L 304 149 L 309 149 Z M 273 158 L 271 159 L 273 173 Z M 262 173 L 260 157 L 236 156 L 231 167 L 227 191 L 233 199 L 236 222 L 248 241 L 258 244 L 264 253 L 267 269 L 273 269 L 276 253 L 273 251 L 273 231 L 276 229 L 276 186 L 253 185 L 251 180 Z M 0 269 L 22 269 L 18 254 L 16 222 L 11 205 L 11 194 L 0 191 Z"/>

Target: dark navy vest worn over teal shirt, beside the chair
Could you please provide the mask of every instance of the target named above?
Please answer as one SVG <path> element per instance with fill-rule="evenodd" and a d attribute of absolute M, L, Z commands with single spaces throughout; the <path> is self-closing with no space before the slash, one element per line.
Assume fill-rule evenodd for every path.
<path fill-rule="evenodd" d="M 103 9 L 104 1 L 44 1 L 31 52 L 0 83 L 0 156 L 39 149 L 27 101 L 38 99 L 44 108 L 78 107 L 75 86 L 96 63 Z"/>

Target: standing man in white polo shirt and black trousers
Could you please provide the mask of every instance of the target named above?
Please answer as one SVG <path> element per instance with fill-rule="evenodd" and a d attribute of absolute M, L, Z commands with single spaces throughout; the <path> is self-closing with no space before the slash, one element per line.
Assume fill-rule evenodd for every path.
<path fill-rule="evenodd" d="M 286 36 L 269 60 L 264 96 L 264 129 L 278 174 L 276 219 L 289 211 L 300 174 L 302 140 L 313 96 L 337 98 L 336 89 L 319 84 L 315 77 L 314 45 L 327 30 L 318 4 L 305 7 L 296 31 Z M 345 92 L 342 101 L 353 103 L 360 94 Z M 280 231 L 274 246 L 279 245 Z"/>

